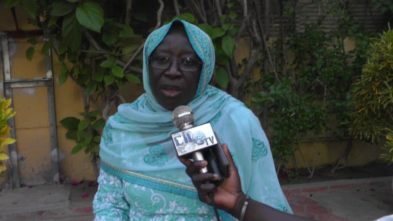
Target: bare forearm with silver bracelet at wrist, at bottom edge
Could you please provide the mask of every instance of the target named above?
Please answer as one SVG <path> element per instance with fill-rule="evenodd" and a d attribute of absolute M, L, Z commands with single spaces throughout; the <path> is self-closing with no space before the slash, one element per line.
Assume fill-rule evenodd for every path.
<path fill-rule="evenodd" d="M 231 215 L 240 220 L 246 197 L 243 196 L 236 205 L 236 210 Z M 250 198 L 245 212 L 244 221 L 313 221 L 297 215 L 279 211 L 271 206 L 254 201 Z"/>

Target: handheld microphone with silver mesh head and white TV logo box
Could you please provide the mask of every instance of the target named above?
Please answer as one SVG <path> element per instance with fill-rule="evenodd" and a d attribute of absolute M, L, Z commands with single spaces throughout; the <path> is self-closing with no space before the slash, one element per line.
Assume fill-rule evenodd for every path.
<path fill-rule="evenodd" d="M 173 145 L 181 158 L 192 158 L 194 161 L 207 161 L 207 167 L 200 173 L 215 173 L 219 179 L 213 181 L 216 186 L 229 176 L 229 162 L 221 147 L 210 122 L 194 126 L 195 116 L 188 106 L 179 106 L 172 113 L 173 124 L 180 129 L 171 134 Z"/>

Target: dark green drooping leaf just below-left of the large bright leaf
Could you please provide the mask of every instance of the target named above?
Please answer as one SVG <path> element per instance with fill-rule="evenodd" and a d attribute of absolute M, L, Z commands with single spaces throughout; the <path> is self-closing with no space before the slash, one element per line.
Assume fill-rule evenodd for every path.
<path fill-rule="evenodd" d="M 64 18 L 61 36 L 72 51 L 76 51 L 82 43 L 82 30 L 83 26 L 78 23 L 74 13 Z"/>

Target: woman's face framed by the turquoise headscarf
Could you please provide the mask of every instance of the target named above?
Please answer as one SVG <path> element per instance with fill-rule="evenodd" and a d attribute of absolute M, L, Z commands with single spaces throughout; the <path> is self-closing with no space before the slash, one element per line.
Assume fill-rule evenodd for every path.
<path fill-rule="evenodd" d="M 200 61 L 188 40 L 187 33 L 169 30 L 150 57 L 156 59 L 167 57 L 172 60 L 167 69 L 156 68 L 151 60 L 149 62 L 150 87 L 157 102 L 170 111 L 191 102 L 197 93 L 202 64 L 199 64 L 198 69 L 193 71 L 180 68 L 179 62 L 184 62 L 184 59 Z"/>

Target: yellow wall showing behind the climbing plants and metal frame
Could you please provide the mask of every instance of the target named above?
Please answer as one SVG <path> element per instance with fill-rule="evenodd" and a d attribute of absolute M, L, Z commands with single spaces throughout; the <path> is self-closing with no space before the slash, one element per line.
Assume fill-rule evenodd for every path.
<path fill-rule="evenodd" d="M 14 24 L 10 10 L 4 10 L 2 1 L 0 4 L 0 31 L 14 31 Z M 19 27 L 22 30 L 32 30 L 34 27 L 27 24 L 26 14 L 20 7 L 16 7 Z M 4 22 L 7 21 L 7 22 Z M 10 22 L 8 22 L 10 21 Z M 14 42 L 13 42 L 14 41 Z M 27 39 L 10 39 L 10 51 L 12 61 L 12 78 L 16 79 L 33 79 L 45 76 L 45 64 L 43 62 L 43 55 L 40 53 L 42 42 L 37 44 L 36 53 L 33 60 L 30 62 L 26 59 L 25 52 L 30 47 Z M 346 41 L 348 49 L 354 47 L 354 42 Z M 248 57 L 250 44 L 247 39 L 242 39 L 239 42 L 239 48 L 236 51 L 237 60 L 241 61 L 243 57 Z M 75 116 L 78 112 L 83 111 L 82 92 L 80 87 L 76 85 L 71 79 L 64 83 L 61 87 L 57 82 L 60 73 L 60 65 L 56 56 L 54 61 L 54 79 L 55 80 L 55 101 L 56 101 L 56 118 L 59 122 L 65 117 Z M 254 70 L 255 76 L 258 79 L 260 68 Z M 1 77 L 1 76 L 0 76 Z M 0 84 L 3 85 L 2 83 Z M 3 90 L 0 90 L 1 96 Z M 139 95 L 143 93 L 143 88 L 133 84 L 127 84 L 120 92 L 127 102 L 134 101 Z M 49 115 L 48 115 L 48 99 L 46 87 L 30 87 L 23 89 L 13 89 L 13 104 L 17 112 L 15 116 L 15 130 L 17 139 L 17 151 L 20 155 L 18 162 L 20 183 L 27 185 L 42 184 L 51 182 L 51 160 L 49 153 L 50 132 L 49 132 Z M 113 110 L 115 112 L 115 110 Z M 80 152 L 71 156 L 71 150 L 75 146 L 75 142 L 65 138 L 67 129 L 63 128 L 60 123 L 57 125 L 57 138 L 60 158 L 60 173 L 63 178 L 70 178 L 71 180 L 94 180 L 92 165 L 89 162 L 89 155 Z M 269 134 L 269 131 L 267 132 Z M 329 137 L 329 134 L 325 135 Z M 325 146 L 324 146 L 325 145 Z M 317 157 L 316 166 L 332 164 L 344 152 L 347 142 L 326 141 L 316 142 L 316 149 L 322 149 L 320 156 Z M 324 146 L 324 147 L 323 147 Z M 322 148 L 323 147 L 323 148 Z M 353 161 L 359 154 L 363 144 L 355 141 L 353 151 L 350 154 L 349 160 Z M 313 164 L 314 159 L 314 144 L 312 142 L 304 142 L 300 144 L 302 153 L 308 162 L 308 165 Z M 8 153 L 8 148 L 4 150 Z M 382 152 L 381 148 L 375 146 L 366 146 L 359 158 L 352 164 L 352 166 L 364 165 L 367 162 L 378 159 Z M 295 153 L 297 164 L 299 167 L 305 167 L 305 164 L 300 156 L 299 151 Z M 9 166 L 8 166 L 9 167 Z M 292 159 L 289 159 L 287 168 L 293 167 Z M 5 179 L 0 179 L 0 183 L 4 183 Z"/>

